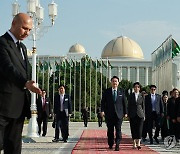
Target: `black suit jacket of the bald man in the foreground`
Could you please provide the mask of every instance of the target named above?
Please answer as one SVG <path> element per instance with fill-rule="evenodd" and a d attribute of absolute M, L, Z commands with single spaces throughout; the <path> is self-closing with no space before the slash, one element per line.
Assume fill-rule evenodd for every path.
<path fill-rule="evenodd" d="M 8 33 L 0 37 L 0 115 L 18 118 L 23 113 L 30 118 L 30 93 L 25 83 L 30 77 L 26 47 L 21 43 L 25 63 Z"/>

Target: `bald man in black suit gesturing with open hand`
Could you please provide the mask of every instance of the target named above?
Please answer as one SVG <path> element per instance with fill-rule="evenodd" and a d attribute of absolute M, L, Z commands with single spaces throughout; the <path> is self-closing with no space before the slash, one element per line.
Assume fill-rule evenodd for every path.
<path fill-rule="evenodd" d="M 27 49 L 19 42 L 31 29 L 32 18 L 19 13 L 0 37 L 0 150 L 4 148 L 4 154 L 21 153 L 24 119 L 31 116 L 28 90 L 41 94 L 30 80 Z"/>

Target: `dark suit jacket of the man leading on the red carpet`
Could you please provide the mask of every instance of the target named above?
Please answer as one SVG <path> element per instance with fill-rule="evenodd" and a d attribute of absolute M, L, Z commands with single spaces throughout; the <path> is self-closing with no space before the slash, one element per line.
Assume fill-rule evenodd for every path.
<path fill-rule="evenodd" d="M 124 114 L 127 114 L 127 104 L 124 92 L 119 89 L 117 90 L 117 99 L 114 103 L 112 88 L 106 89 L 101 100 L 101 112 L 105 113 L 106 119 L 113 118 L 113 113 L 116 113 L 119 119 L 121 119 Z"/>

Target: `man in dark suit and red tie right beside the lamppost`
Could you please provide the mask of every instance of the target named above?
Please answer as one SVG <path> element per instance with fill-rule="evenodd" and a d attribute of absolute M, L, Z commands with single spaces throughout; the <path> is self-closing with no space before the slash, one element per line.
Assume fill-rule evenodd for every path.
<path fill-rule="evenodd" d="M 38 112 L 38 133 L 41 135 L 41 124 L 43 123 L 42 136 L 46 136 L 48 118 L 51 116 L 51 102 L 49 97 L 46 97 L 46 91 L 42 90 L 42 95 L 38 97 L 37 101 L 37 112 Z"/>

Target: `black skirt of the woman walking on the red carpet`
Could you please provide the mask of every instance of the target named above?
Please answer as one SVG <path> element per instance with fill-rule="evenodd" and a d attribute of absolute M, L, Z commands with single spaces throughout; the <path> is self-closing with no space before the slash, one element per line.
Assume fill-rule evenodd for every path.
<path fill-rule="evenodd" d="M 144 119 L 136 115 L 130 118 L 130 128 L 132 139 L 141 139 Z"/>

